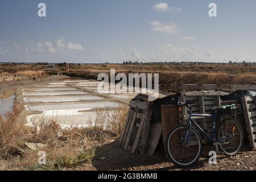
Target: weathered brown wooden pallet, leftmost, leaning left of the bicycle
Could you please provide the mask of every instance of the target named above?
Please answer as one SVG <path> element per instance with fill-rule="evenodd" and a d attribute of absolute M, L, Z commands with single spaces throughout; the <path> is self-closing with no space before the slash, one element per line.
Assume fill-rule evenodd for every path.
<path fill-rule="evenodd" d="M 132 153 L 144 154 L 150 118 L 152 113 L 151 102 L 130 101 L 130 109 L 127 113 L 119 146 Z"/>

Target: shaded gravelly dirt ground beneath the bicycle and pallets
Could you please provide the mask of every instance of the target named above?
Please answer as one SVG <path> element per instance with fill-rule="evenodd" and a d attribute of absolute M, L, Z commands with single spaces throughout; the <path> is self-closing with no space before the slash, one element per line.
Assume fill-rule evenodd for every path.
<path fill-rule="evenodd" d="M 96 148 L 92 164 L 84 164 L 71 170 L 256 170 L 256 151 L 242 151 L 234 157 L 217 156 L 217 164 L 209 165 L 207 158 L 200 158 L 191 168 L 178 168 L 165 157 L 163 147 L 158 147 L 154 156 L 131 154 L 118 147 L 118 142 Z"/>

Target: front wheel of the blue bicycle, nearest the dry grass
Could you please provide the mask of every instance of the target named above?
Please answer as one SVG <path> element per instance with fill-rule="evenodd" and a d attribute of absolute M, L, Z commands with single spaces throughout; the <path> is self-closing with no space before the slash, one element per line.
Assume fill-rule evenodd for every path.
<path fill-rule="evenodd" d="M 177 126 L 170 131 L 166 138 L 166 154 L 174 164 L 180 167 L 189 167 L 197 162 L 202 152 L 201 137 L 191 127 Z M 188 143 L 184 142 L 189 138 Z"/>

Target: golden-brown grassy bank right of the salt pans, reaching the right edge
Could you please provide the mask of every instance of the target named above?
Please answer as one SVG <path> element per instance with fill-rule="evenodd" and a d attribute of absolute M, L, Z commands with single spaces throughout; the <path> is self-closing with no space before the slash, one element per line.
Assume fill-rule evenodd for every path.
<path fill-rule="evenodd" d="M 253 84 L 256 66 L 229 64 L 147 65 L 147 64 L 83 64 L 63 71 L 72 77 L 97 79 L 99 73 L 159 73 L 159 84 Z M 128 76 L 127 76 L 128 77 Z"/>

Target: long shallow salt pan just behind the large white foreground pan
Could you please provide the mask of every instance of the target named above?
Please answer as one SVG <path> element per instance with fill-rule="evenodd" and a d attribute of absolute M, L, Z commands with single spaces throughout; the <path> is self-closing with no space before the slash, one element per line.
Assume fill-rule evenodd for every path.
<path fill-rule="evenodd" d="M 90 109 L 108 109 L 110 107 L 118 107 L 118 102 L 84 102 L 84 103 L 61 103 L 61 104 L 35 104 L 26 105 L 28 111 L 46 111 L 46 110 L 90 110 Z"/>

